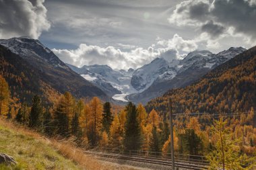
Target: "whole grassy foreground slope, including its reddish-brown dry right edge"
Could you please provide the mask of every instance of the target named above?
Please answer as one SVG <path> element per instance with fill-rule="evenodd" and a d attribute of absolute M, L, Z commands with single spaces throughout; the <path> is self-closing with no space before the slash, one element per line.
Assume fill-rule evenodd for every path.
<path fill-rule="evenodd" d="M 104 163 L 84 154 L 72 142 L 46 138 L 33 130 L 1 119 L 0 144 L 0 152 L 15 157 L 24 169 L 133 169 L 126 165 Z"/>

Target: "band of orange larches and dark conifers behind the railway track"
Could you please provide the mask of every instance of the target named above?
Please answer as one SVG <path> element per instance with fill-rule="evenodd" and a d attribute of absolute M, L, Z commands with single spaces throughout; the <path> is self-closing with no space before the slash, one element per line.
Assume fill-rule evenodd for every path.
<path fill-rule="evenodd" d="M 40 95 L 32 101 L 11 99 L 9 85 L 0 76 L 0 116 L 46 136 L 72 139 L 82 148 L 143 151 L 146 155 L 170 153 L 168 112 L 147 112 L 142 104 L 124 107 L 92 99 L 76 99 L 69 92 L 45 105 Z M 28 103 L 31 103 L 30 105 Z M 218 104 L 218 103 L 217 103 Z M 226 169 L 252 169 L 255 165 L 255 110 L 233 114 L 185 112 L 174 114 L 174 151 L 205 156 L 210 169 L 225 163 Z"/>

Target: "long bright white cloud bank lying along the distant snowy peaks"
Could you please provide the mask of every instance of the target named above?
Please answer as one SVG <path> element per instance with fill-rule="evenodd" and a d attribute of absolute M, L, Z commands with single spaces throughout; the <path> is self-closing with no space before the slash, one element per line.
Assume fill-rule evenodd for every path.
<path fill-rule="evenodd" d="M 129 51 L 122 51 L 113 46 L 106 48 L 80 44 L 75 50 L 53 49 L 63 62 L 82 67 L 83 65 L 108 65 L 113 69 L 137 69 L 148 64 L 156 57 L 165 58 L 168 61 L 181 59 L 184 52 L 191 52 L 197 49 L 194 40 L 184 40 L 178 34 L 174 34 L 170 40 L 157 39 L 157 45 L 148 48 L 133 48 Z M 158 46 L 158 47 L 157 47 Z"/>

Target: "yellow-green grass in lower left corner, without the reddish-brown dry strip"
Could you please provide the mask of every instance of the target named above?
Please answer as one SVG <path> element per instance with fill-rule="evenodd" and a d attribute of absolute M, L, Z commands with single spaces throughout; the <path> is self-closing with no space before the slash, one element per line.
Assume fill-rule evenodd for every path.
<path fill-rule="evenodd" d="M 15 167 L 0 165 L 0 170 L 81 169 L 43 141 L 7 128 L 0 122 L 0 153 L 6 153 L 18 162 Z"/>

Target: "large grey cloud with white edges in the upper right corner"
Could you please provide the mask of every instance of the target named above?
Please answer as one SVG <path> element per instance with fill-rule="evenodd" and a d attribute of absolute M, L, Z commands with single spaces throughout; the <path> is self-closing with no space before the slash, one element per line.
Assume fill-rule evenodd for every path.
<path fill-rule="evenodd" d="M 201 28 L 214 36 L 234 28 L 236 34 L 256 39 L 255 0 L 188 0 L 179 3 L 168 18 L 171 24 Z"/>

